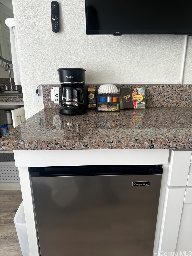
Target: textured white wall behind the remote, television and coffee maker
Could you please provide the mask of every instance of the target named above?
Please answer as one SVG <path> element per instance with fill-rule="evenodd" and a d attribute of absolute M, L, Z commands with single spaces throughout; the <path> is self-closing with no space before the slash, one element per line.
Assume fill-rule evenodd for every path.
<path fill-rule="evenodd" d="M 60 32 L 54 33 L 51 1 L 13 0 L 26 118 L 43 108 L 33 103 L 31 87 L 59 82 L 57 69 L 61 67 L 86 69 L 86 83 L 180 80 L 184 36 L 86 35 L 85 1 L 58 2 Z M 192 83 L 191 39 L 183 83 Z"/>

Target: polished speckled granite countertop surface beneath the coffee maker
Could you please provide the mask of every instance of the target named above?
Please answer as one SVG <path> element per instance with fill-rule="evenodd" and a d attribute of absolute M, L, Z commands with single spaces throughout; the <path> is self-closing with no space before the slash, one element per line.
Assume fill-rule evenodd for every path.
<path fill-rule="evenodd" d="M 44 109 L 0 139 L 1 150 L 191 149 L 192 108 L 64 116 Z"/>

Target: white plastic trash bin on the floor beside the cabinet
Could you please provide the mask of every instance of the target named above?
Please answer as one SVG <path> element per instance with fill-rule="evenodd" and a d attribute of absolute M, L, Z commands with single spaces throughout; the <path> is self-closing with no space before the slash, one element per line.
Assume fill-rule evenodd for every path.
<path fill-rule="evenodd" d="M 19 239 L 19 244 L 21 247 L 21 252 L 23 256 L 30 256 L 29 241 L 27 236 L 27 227 L 25 222 L 25 213 L 23 208 L 23 202 L 20 204 L 15 217 L 13 219 L 15 223 L 15 228 L 17 231 L 17 236 Z"/>

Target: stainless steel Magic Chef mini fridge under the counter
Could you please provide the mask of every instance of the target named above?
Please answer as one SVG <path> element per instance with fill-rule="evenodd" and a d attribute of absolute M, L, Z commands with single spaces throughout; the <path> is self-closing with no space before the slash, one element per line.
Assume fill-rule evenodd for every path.
<path fill-rule="evenodd" d="M 162 166 L 31 167 L 41 256 L 152 256 Z"/>

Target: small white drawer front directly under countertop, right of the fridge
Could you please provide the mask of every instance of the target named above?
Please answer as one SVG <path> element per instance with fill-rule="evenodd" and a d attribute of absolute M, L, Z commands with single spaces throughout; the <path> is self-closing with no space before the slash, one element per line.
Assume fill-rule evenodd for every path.
<path fill-rule="evenodd" d="M 171 150 L 168 186 L 187 185 L 191 152 L 191 150 Z"/>

